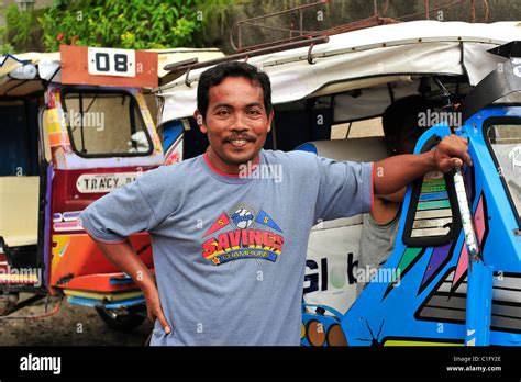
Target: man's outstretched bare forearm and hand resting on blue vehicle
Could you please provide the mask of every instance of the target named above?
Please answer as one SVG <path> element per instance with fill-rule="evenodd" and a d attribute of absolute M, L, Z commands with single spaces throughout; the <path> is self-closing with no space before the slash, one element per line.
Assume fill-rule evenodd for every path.
<path fill-rule="evenodd" d="M 462 167 L 463 162 L 472 166 L 468 143 L 461 136 L 450 135 L 433 151 L 397 155 L 376 161 L 373 169 L 374 192 L 391 194 L 426 172 L 447 172 Z"/>

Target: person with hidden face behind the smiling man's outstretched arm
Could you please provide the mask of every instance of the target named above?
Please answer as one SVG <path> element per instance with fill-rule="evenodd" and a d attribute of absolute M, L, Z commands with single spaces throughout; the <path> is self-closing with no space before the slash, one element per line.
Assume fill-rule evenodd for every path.
<path fill-rule="evenodd" d="M 410 96 L 391 103 L 381 115 L 387 147 L 392 155 L 412 154 L 420 136 L 429 128 L 418 124 L 420 113 L 434 109 L 434 102 L 422 96 Z M 363 231 L 358 268 L 365 276 L 374 274 L 395 249 L 401 202 L 407 188 L 398 192 L 375 194 L 373 209 L 362 216 Z M 367 272 L 369 270 L 369 272 Z M 356 294 L 359 295 L 369 280 L 357 280 Z"/>

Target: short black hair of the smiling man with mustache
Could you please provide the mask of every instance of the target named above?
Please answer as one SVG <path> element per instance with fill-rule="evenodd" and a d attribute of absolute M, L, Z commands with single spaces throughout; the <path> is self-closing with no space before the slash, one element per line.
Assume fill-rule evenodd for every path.
<path fill-rule="evenodd" d="M 255 66 L 242 61 L 229 61 L 219 64 L 208 70 L 204 70 L 199 77 L 197 87 L 197 109 L 207 116 L 209 103 L 209 90 L 211 87 L 218 86 L 226 77 L 244 77 L 252 81 L 258 81 L 264 93 L 264 109 L 266 114 L 271 112 L 271 82 L 268 75 L 258 70 Z"/>

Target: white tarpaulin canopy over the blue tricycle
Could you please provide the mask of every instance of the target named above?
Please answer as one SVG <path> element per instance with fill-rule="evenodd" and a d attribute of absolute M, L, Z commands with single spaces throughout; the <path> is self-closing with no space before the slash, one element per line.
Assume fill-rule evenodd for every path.
<path fill-rule="evenodd" d="M 487 50 L 516 40 L 521 40 L 520 22 L 414 21 L 333 35 L 329 43 L 313 47 L 313 65 L 308 63 L 308 47 L 253 57 L 248 63 L 269 75 L 273 102 L 281 104 L 374 86 L 377 77 L 389 75 L 467 74 L 474 86 L 505 60 Z M 158 89 L 164 100 L 162 123 L 193 114 L 197 81 L 206 69 L 189 74 L 190 87 L 182 76 Z"/>

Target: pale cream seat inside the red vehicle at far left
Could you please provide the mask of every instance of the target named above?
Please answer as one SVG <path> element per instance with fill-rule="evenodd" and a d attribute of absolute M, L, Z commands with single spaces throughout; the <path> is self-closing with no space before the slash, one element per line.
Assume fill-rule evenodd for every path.
<path fill-rule="evenodd" d="M 37 244 L 40 177 L 0 177 L 0 236 L 9 247 Z"/>

